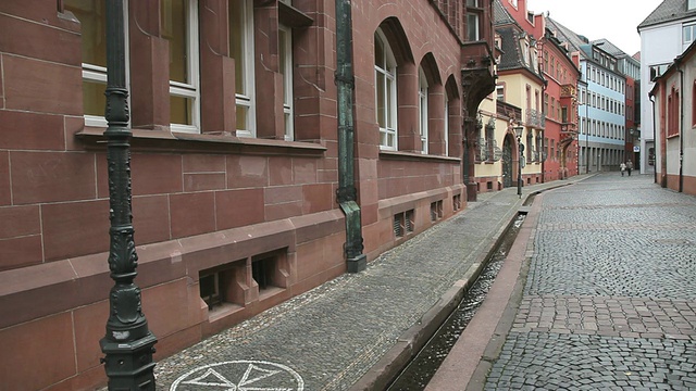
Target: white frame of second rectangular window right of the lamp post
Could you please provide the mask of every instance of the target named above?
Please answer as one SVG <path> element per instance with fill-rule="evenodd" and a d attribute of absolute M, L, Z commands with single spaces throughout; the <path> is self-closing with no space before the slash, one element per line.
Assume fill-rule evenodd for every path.
<path fill-rule="evenodd" d="M 237 129 L 238 137 L 257 137 L 257 114 L 256 114 L 256 86 L 254 86 L 254 64 L 253 64 L 253 3 L 252 0 L 236 0 L 243 1 L 244 8 L 244 83 L 247 93 L 235 93 L 235 103 L 238 106 L 247 109 L 247 128 Z M 236 124 L 236 121 L 235 121 Z"/>

